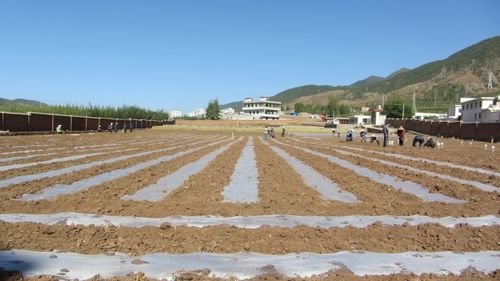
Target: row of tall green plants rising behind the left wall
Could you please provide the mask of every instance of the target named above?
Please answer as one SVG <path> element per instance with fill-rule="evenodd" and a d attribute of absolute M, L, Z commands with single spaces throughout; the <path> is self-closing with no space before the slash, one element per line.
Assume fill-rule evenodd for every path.
<path fill-rule="evenodd" d="M 147 120 L 166 120 L 168 113 L 163 110 L 149 110 L 135 105 L 123 106 L 96 106 L 89 104 L 82 105 L 26 105 L 18 103 L 8 103 L 0 105 L 0 111 L 5 112 L 39 112 L 61 115 L 76 115 L 89 117 L 106 117 L 119 119 L 147 119 Z"/>

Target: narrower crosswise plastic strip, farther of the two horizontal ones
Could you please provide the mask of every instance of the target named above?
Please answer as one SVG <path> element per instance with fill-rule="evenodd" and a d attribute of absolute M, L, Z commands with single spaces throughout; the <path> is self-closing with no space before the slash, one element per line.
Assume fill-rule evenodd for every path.
<path fill-rule="evenodd" d="M 295 215 L 262 215 L 262 216 L 170 216 L 163 218 L 148 218 L 134 216 L 108 216 L 85 213 L 56 213 L 56 214 L 0 214 L 0 220 L 8 223 L 33 222 L 47 225 L 95 225 L 116 227 L 159 227 L 162 223 L 173 226 L 206 227 L 230 225 L 238 228 L 255 229 L 264 225 L 272 227 L 295 227 L 305 225 L 309 227 L 357 227 L 364 228 L 374 223 L 398 226 L 403 224 L 439 224 L 452 228 L 459 224 L 468 224 L 472 227 L 499 226 L 499 216 L 482 217 L 428 217 L 428 216 L 295 216 Z"/>

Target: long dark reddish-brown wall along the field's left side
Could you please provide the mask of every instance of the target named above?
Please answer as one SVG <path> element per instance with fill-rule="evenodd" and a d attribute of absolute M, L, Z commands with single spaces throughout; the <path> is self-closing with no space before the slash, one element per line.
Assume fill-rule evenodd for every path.
<path fill-rule="evenodd" d="M 132 125 L 134 129 L 152 128 L 166 124 L 163 121 L 143 119 L 112 119 L 35 112 L 26 114 L 0 113 L 0 130 L 10 132 L 53 132 L 58 125 L 61 125 L 64 131 L 97 131 L 99 125 L 102 130 L 106 130 L 110 123 L 116 122 L 118 122 L 118 129 L 123 129 L 124 124 L 127 124 L 127 128 Z"/>

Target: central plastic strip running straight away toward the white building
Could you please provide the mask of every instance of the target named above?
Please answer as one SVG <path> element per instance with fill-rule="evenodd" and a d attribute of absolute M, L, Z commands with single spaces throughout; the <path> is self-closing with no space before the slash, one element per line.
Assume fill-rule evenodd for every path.
<path fill-rule="evenodd" d="M 231 175 L 231 182 L 224 187 L 223 202 L 255 203 L 259 197 L 259 171 L 255 161 L 253 138 L 249 137 Z"/>

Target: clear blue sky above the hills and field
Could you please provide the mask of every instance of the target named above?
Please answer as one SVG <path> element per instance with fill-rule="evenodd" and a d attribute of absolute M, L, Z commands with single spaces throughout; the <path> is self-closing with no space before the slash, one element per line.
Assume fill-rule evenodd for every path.
<path fill-rule="evenodd" d="M 0 97 L 187 112 L 500 35 L 497 0 L 0 0 Z"/>

